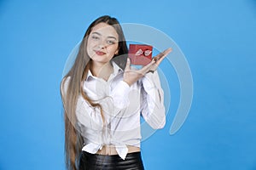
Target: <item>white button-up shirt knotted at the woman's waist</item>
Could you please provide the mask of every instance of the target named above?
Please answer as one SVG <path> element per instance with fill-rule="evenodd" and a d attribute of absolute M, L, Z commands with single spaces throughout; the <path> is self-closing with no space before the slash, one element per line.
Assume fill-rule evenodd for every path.
<path fill-rule="evenodd" d="M 124 71 L 114 62 L 108 81 L 94 77 L 88 71 L 84 93 L 102 106 L 92 107 L 79 95 L 76 116 L 84 137 L 82 150 L 95 154 L 103 145 L 114 145 L 122 159 L 128 153 L 126 145 L 140 147 L 140 116 L 154 129 L 164 127 L 166 114 L 164 94 L 157 71 L 147 73 L 131 87 L 123 81 Z M 67 83 L 64 88 L 67 89 Z M 105 124 L 105 126 L 104 126 Z"/>

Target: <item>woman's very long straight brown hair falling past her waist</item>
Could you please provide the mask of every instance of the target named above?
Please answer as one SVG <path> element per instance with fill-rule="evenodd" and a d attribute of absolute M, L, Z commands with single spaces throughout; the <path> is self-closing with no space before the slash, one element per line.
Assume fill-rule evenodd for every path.
<path fill-rule="evenodd" d="M 87 54 L 86 46 L 87 39 L 90 35 L 90 31 L 99 23 L 106 23 L 109 26 L 113 26 L 115 31 L 117 31 L 119 35 L 119 53 L 118 55 L 122 55 L 122 59 L 117 59 L 115 62 L 122 69 L 125 69 L 126 59 L 128 49 L 125 42 L 125 36 L 122 31 L 121 26 L 119 25 L 119 21 L 115 18 L 112 18 L 108 15 L 102 16 L 95 21 L 93 21 L 88 27 L 87 31 L 84 34 L 84 38 L 80 43 L 79 53 L 74 61 L 73 67 L 70 71 L 67 72 L 67 75 L 63 77 L 61 81 L 61 98 L 64 106 L 64 122 L 65 122 L 65 157 L 66 157 L 66 167 L 68 170 L 75 170 L 78 168 L 79 164 L 79 153 L 82 149 L 82 145 L 84 143 L 84 138 L 79 133 L 79 128 L 77 127 L 77 117 L 75 114 L 77 100 L 79 94 L 81 94 L 85 100 L 93 107 L 100 107 L 101 105 L 94 103 L 83 91 L 83 82 L 85 77 L 87 76 L 87 72 L 89 70 L 90 65 L 90 57 Z M 113 59 L 116 56 L 113 56 Z M 65 81 L 69 79 L 69 83 L 67 84 L 67 90 L 65 90 L 65 94 L 63 94 L 63 85 Z M 101 109 L 102 111 L 102 109 Z M 102 113 L 102 120 L 104 122 L 104 116 Z"/>

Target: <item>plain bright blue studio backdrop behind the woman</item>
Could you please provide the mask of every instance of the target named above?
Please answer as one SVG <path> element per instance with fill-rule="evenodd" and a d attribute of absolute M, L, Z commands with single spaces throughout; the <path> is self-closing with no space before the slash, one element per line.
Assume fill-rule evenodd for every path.
<path fill-rule="evenodd" d="M 188 119 L 172 136 L 170 76 L 166 127 L 143 141 L 146 169 L 256 169 L 255 0 L 0 1 L 0 169 L 64 169 L 61 74 L 103 14 L 165 32 L 193 74 Z"/>

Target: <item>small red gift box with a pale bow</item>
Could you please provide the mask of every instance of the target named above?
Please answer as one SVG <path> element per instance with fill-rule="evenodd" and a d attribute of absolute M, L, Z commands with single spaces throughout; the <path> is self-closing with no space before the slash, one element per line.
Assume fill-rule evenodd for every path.
<path fill-rule="evenodd" d="M 152 60 L 153 47 L 145 44 L 130 44 L 128 56 L 132 65 L 148 65 Z"/>

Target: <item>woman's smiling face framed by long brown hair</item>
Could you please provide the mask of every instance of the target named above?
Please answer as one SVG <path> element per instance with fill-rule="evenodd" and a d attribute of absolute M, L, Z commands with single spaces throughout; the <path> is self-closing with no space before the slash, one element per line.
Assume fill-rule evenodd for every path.
<path fill-rule="evenodd" d="M 106 64 L 118 54 L 119 35 L 112 26 L 99 23 L 92 28 L 87 42 L 87 53 L 93 62 Z"/>

